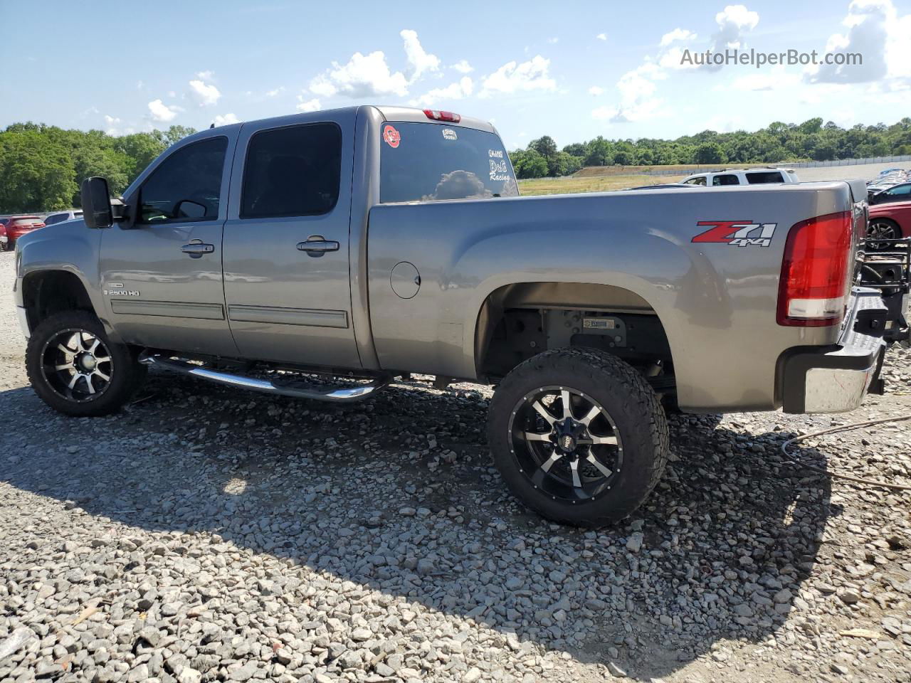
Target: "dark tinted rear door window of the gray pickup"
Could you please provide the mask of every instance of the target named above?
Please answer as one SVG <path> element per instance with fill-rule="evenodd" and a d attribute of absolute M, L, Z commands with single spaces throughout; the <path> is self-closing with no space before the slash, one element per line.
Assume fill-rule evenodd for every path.
<path fill-rule="evenodd" d="M 339 199 L 342 131 L 333 123 L 256 133 L 243 169 L 241 218 L 318 216 Z"/>

